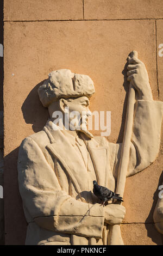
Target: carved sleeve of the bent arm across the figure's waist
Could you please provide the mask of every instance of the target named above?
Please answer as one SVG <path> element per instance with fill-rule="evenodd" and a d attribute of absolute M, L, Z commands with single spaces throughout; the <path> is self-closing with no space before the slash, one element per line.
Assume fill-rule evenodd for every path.
<path fill-rule="evenodd" d="M 90 206 L 61 190 L 54 169 L 30 137 L 24 139 L 19 150 L 18 184 L 25 215 L 28 212 L 40 227 L 102 238 L 103 207 L 99 204 Z"/>

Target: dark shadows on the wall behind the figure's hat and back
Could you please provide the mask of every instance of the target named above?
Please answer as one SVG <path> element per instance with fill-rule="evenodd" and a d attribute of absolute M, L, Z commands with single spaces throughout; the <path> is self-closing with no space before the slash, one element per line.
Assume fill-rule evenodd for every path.
<path fill-rule="evenodd" d="M 42 82 L 31 90 L 22 105 L 24 120 L 27 124 L 32 124 L 34 132 L 41 131 L 49 118 L 48 109 L 42 106 L 37 93 Z M 26 240 L 27 222 L 18 191 L 17 158 L 18 148 L 4 157 L 4 198 L 7 198 L 5 204 L 5 245 L 24 245 Z"/>

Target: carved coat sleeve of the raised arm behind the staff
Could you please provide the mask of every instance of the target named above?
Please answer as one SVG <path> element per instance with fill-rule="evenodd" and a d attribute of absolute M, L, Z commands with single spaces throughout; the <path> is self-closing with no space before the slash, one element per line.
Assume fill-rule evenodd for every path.
<path fill-rule="evenodd" d="M 127 176 L 145 169 L 156 159 L 160 147 L 163 102 L 137 100 Z M 110 163 L 117 179 L 122 143 L 109 143 Z"/>

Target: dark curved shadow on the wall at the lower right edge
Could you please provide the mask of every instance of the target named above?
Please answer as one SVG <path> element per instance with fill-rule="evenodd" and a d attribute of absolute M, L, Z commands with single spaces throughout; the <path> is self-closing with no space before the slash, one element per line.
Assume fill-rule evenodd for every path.
<path fill-rule="evenodd" d="M 156 230 L 154 224 L 149 224 L 149 223 L 150 223 L 151 220 L 153 220 L 153 212 L 154 212 L 156 203 L 158 202 L 158 198 L 159 198 L 158 194 L 160 192 L 160 190 L 158 190 L 158 187 L 162 184 L 163 184 L 163 171 L 161 173 L 161 176 L 160 176 L 160 179 L 159 179 L 159 182 L 158 182 L 157 190 L 155 191 L 155 193 L 153 195 L 153 205 L 152 205 L 151 211 L 149 212 L 149 215 L 148 215 L 148 217 L 146 219 L 146 222 L 145 222 L 145 226 L 146 226 L 146 229 L 147 229 L 147 236 L 151 237 L 152 241 L 154 243 L 156 243 L 156 245 L 158 245 L 158 241 L 160 240 L 160 239 L 158 239 L 158 237 L 160 237 L 161 234 Z M 153 225 L 153 227 L 151 225 Z M 154 233 L 153 228 L 155 229 L 155 233 Z M 163 236 L 162 236 L 162 242 L 163 242 Z M 161 243 L 161 245 L 162 245 L 162 243 Z"/>

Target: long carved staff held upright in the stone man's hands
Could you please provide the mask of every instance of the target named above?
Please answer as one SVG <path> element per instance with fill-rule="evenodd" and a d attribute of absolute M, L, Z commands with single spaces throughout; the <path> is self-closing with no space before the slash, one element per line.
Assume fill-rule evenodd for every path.
<path fill-rule="evenodd" d="M 133 51 L 130 54 L 130 58 L 137 57 L 137 52 Z M 135 90 L 130 82 L 128 105 L 126 113 L 126 121 L 124 126 L 124 136 L 121 150 L 120 166 L 118 168 L 118 179 L 116 193 L 123 197 L 124 187 L 126 184 L 126 175 L 129 163 L 130 142 L 133 132 L 133 119 L 134 119 L 134 104 L 135 104 Z M 120 225 L 112 225 L 110 230 L 110 245 L 124 245 Z"/>

